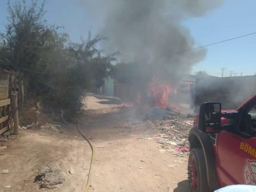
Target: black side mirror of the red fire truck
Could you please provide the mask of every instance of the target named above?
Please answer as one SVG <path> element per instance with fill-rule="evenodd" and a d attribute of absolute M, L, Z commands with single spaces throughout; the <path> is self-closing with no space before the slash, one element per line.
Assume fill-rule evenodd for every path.
<path fill-rule="evenodd" d="M 204 133 L 217 133 L 221 130 L 221 103 L 201 104 L 198 129 Z"/>

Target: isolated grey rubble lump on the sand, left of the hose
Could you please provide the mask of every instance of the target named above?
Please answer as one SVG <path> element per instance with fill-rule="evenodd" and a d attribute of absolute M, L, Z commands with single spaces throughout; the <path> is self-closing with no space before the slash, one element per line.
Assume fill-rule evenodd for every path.
<path fill-rule="evenodd" d="M 51 165 L 45 165 L 39 169 L 35 181 L 40 184 L 40 188 L 47 188 L 51 190 L 57 188 L 66 179 L 65 173 L 59 168 L 52 167 Z"/>

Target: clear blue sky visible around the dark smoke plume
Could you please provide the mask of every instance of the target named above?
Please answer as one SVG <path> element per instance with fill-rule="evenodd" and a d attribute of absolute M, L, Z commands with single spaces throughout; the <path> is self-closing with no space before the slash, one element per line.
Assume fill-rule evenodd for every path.
<path fill-rule="evenodd" d="M 86 39 L 89 31 L 96 35 L 104 21 L 100 17 L 95 19 L 95 12 L 81 1 L 48 0 L 45 6 L 48 23 L 63 26 L 63 32 L 74 42 L 79 42 L 81 37 Z M 4 32 L 7 23 L 6 3 L 7 0 L 0 1 L 0 32 Z M 255 7 L 255 0 L 224 0 L 217 9 L 202 17 L 187 18 L 181 24 L 190 30 L 195 47 L 200 47 L 256 32 Z M 221 68 L 225 68 L 224 76 L 255 75 L 255 45 L 256 34 L 207 47 L 206 57 L 193 66 L 191 73 L 206 71 L 209 75 L 221 76 Z"/>

